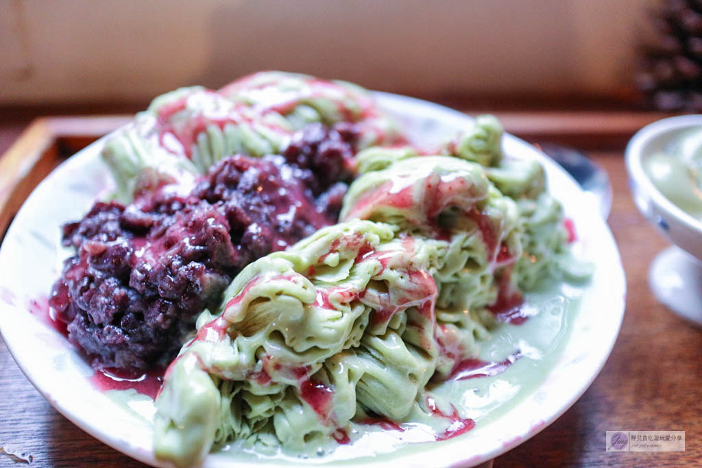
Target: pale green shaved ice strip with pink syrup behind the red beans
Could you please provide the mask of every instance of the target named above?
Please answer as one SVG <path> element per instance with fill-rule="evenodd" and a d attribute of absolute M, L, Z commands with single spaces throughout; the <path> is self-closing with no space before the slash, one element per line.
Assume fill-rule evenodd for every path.
<path fill-rule="evenodd" d="M 160 95 L 108 138 L 101 156 L 117 185 L 115 198 L 127 203 L 158 182 L 204 174 L 226 156 L 281 154 L 297 131 L 316 122 L 357 126 L 357 149 L 402 140 L 364 88 L 261 72 L 220 91 L 190 86 Z"/>

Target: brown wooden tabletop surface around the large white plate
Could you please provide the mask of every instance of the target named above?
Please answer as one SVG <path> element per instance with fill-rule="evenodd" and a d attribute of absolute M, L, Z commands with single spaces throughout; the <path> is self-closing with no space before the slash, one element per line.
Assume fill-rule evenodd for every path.
<path fill-rule="evenodd" d="M 702 330 L 668 312 L 651 294 L 649 265 L 667 243 L 637 212 L 623 161 L 623 145 L 630 134 L 658 117 L 503 114 L 508 130 L 528 140 L 587 145 L 592 159 L 607 170 L 614 186 L 609 226 L 621 251 L 628 295 L 621 333 L 597 380 L 550 427 L 496 458 L 495 467 L 702 464 Z M 67 141 L 81 145 L 90 140 L 91 135 L 80 133 Z M 19 128 L 16 123 L 0 123 L 0 135 L 2 153 Z M 682 430 L 686 451 L 607 453 L 604 432 L 615 429 Z M 32 466 L 141 466 L 58 414 L 22 375 L 0 340 L 0 466 L 29 460 Z"/>

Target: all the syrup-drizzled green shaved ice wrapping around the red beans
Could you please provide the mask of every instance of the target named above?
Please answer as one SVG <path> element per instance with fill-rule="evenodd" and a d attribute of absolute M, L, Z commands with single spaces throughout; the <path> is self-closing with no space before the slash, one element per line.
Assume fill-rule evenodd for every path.
<path fill-rule="evenodd" d="M 310 123 L 361 128 L 340 222 L 250 263 L 201 313 L 156 401 L 160 460 L 197 464 L 233 441 L 307 453 L 369 418 L 432 418 L 429 388 L 475 359 L 525 292 L 592 273 L 541 164 L 503 154 L 494 116 L 426 155 L 364 89 L 263 72 L 160 96 L 103 157 L 128 200 L 229 154 L 281 154 Z"/>

